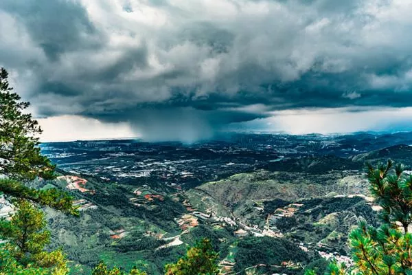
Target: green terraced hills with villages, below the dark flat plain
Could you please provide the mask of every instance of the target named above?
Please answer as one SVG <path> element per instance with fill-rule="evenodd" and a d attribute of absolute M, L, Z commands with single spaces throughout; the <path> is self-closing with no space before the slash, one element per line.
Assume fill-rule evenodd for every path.
<path fill-rule="evenodd" d="M 338 251 L 361 217 L 373 217 L 368 201 L 349 197 L 367 193 L 365 179 L 354 171 L 315 175 L 258 170 L 181 191 L 109 184 L 67 173 L 49 184 L 71 188 L 82 210 L 80 217 L 46 210 L 53 248 L 62 246 L 69 259 L 76 259 L 73 274 L 87 274 L 100 259 L 162 274 L 165 263 L 185 252 L 185 244 L 201 237 L 213 240 L 222 263 L 233 272 L 255 263 L 244 249 L 250 242 L 260 243 L 262 250 L 270 249 L 271 242 L 286 245 L 296 249 L 295 255 L 300 255 L 299 243 L 304 243 L 310 251 L 306 256 L 276 259 L 307 265 L 319 258 L 317 251 Z M 293 212 L 294 219 L 273 219 L 275 212 L 292 203 L 303 204 Z"/>

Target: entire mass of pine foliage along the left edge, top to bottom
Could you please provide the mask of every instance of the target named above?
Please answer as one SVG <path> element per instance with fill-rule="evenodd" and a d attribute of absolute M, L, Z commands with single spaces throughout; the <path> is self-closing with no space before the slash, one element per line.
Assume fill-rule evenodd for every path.
<path fill-rule="evenodd" d="M 54 165 L 40 153 L 38 134 L 41 128 L 24 110 L 28 102 L 20 101 L 8 83 L 8 72 L 0 69 L 0 193 L 16 208 L 11 220 L 0 220 L 1 274 L 56 274 L 69 272 L 61 250 L 48 252 L 50 232 L 45 230 L 43 212 L 36 205 L 50 206 L 78 214 L 71 197 L 50 188 L 36 190 L 21 181 L 41 177 L 54 178 Z"/>

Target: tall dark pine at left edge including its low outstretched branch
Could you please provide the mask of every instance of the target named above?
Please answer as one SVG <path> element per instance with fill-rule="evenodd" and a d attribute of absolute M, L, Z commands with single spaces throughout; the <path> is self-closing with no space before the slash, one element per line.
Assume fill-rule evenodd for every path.
<path fill-rule="evenodd" d="M 76 214 L 71 197 L 57 189 L 35 190 L 20 181 L 54 178 L 54 165 L 41 155 L 38 135 L 42 130 L 8 83 L 8 72 L 0 68 L 0 194 L 29 199 L 43 206 Z"/>

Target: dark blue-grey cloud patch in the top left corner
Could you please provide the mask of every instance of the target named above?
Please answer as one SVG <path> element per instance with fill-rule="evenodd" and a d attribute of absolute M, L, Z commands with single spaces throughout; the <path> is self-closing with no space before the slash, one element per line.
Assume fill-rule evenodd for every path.
<path fill-rule="evenodd" d="M 79 48 L 99 47 L 91 36 L 97 30 L 86 10 L 74 1 L 4 0 L 1 8 L 23 23 L 30 37 L 45 55 L 56 61 L 62 53 Z"/>

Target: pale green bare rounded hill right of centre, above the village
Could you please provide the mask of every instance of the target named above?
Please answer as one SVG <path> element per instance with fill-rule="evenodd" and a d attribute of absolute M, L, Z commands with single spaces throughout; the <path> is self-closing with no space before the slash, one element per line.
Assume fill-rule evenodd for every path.
<path fill-rule="evenodd" d="M 330 192 L 342 195 L 361 192 L 363 195 L 368 195 L 367 187 L 363 187 L 362 177 L 350 178 L 348 179 L 350 182 L 339 184 L 339 181 L 352 175 L 354 172 L 331 171 L 325 174 L 307 174 L 257 170 L 212 181 L 196 187 L 196 190 L 202 190 L 218 203 L 229 207 L 238 206 L 238 203 L 247 199 L 298 201 L 326 197 Z"/>

